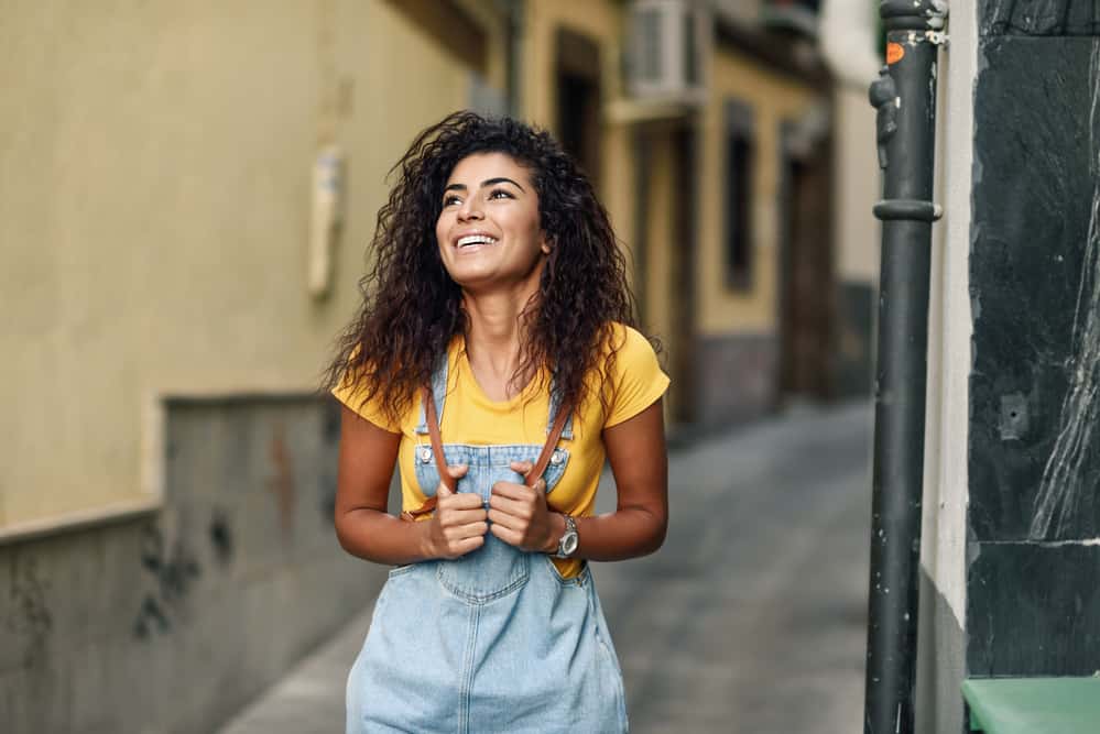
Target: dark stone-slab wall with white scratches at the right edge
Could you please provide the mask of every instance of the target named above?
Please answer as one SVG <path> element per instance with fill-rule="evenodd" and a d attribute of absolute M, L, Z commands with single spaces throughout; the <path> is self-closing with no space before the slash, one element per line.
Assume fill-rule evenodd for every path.
<path fill-rule="evenodd" d="M 1100 26 L 979 6 L 967 668 L 1100 657 Z"/>

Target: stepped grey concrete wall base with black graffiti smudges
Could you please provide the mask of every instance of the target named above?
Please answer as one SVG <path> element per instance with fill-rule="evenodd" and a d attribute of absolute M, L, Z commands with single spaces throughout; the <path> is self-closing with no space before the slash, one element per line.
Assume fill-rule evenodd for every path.
<path fill-rule="evenodd" d="M 162 513 L 0 546 L 3 731 L 214 731 L 361 609 L 338 438 L 328 399 L 173 402 Z"/>

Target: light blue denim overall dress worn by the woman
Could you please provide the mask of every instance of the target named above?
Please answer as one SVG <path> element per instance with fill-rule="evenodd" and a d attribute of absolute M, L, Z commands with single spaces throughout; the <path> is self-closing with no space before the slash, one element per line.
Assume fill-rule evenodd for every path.
<path fill-rule="evenodd" d="M 446 392 L 444 360 L 432 380 L 440 419 Z M 548 426 L 557 409 L 552 399 Z M 422 406 L 422 436 L 425 413 Z M 573 439 L 571 421 L 559 443 Z M 457 490 L 480 494 L 488 507 L 494 482 L 524 481 L 509 464 L 534 462 L 542 449 L 444 443 L 443 454 L 469 467 Z M 421 443 L 414 453 L 414 467 L 401 471 L 414 471 L 424 495 L 434 496 L 433 451 Z M 556 447 L 543 474 L 547 493 L 568 462 L 568 449 Z M 564 579 L 546 555 L 488 533 L 458 559 L 390 571 L 348 676 L 347 734 L 625 731 L 622 675 L 587 565 Z"/>

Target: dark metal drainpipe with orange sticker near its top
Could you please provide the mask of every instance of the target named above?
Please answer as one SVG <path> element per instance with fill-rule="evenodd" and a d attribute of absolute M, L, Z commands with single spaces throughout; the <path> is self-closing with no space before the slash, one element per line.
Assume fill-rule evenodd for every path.
<path fill-rule="evenodd" d="M 921 497 L 928 349 L 936 58 L 943 0 L 883 0 L 886 64 L 870 89 L 878 110 L 883 200 L 874 391 L 871 578 L 864 734 L 915 725 Z"/>

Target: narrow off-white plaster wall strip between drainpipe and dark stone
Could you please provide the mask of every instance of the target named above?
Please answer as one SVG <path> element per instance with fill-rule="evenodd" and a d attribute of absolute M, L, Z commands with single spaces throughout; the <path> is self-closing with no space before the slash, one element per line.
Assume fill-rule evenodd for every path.
<path fill-rule="evenodd" d="M 970 191 L 978 39 L 973 14 L 952 10 L 950 50 L 940 53 L 937 69 L 935 198 L 944 217 L 933 228 L 917 632 L 917 731 L 928 734 L 962 731 L 959 687 L 966 654 L 968 380 L 973 332 Z"/>

